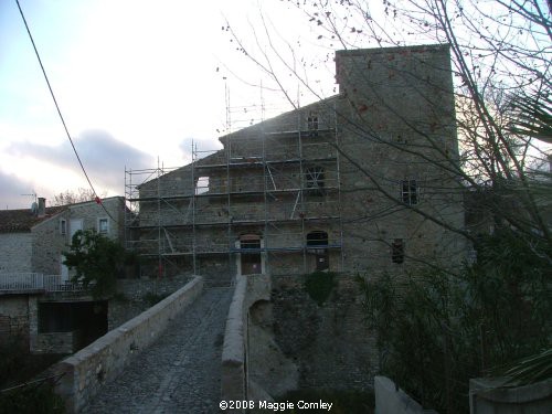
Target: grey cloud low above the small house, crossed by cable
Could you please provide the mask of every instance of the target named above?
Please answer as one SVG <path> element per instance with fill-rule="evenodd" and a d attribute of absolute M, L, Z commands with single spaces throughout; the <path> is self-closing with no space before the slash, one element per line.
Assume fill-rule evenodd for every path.
<path fill-rule="evenodd" d="M 121 142 L 99 129 L 86 130 L 73 139 L 81 161 L 96 187 L 123 191 L 125 167 L 145 169 L 155 167 L 155 158 L 132 146 Z M 46 146 L 29 141 L 14 142 L 8 152 L 15 157 L 31 157 L 43 162 L 83 174 L 68 141 Z M 99 191 L 99 188 L 97 189 Z"/>

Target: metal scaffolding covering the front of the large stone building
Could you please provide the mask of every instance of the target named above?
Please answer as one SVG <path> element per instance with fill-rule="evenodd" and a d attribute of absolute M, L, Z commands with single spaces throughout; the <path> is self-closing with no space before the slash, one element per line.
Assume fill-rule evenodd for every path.
<path fill-rule="evenodd" d="M 262 255 L 270 273 L 290 256 L 307 273 L 311 257 L 331 255 L 341 270 L 335 110 L 287 115 L 222 137 L 220 150 L 192 144 L 188 166 L 125 169 L 127 248 L 151 258 L 160 275 L 202 274 L 213 262 L 233 273 L 244 255 Z"/>

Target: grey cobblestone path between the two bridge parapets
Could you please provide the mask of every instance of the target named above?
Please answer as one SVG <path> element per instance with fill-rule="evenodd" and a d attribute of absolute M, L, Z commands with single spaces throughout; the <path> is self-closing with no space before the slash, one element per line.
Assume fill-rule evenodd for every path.
<path fill-rule="evenodd" d="M 219 413 L 232 288 L 206 289 L 83 413 Z"/>

